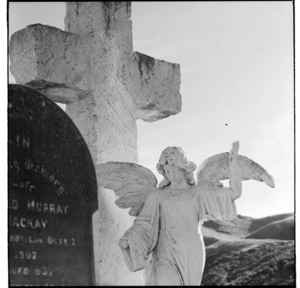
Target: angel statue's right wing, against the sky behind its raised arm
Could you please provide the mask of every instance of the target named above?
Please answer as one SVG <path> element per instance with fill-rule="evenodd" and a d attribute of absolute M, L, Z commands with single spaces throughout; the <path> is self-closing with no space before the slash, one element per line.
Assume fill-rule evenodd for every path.
<path fill-rule="evenodd" d="M 257 180 L 265 182 L 268 186 L 274 188 L 275 183 L 273 177 L 266 169 L 252 161 L 251 159 L 237 155 L 237 163 L 241 171 L 241 179 L 243 180 Z M 229 179 L 229 152 L 216 154 L 207 158 L 201 163 L 197 171 L 198 184 L 203 182 L 211 183 L 212 185 L 222 186 L 220 180 Z"/>

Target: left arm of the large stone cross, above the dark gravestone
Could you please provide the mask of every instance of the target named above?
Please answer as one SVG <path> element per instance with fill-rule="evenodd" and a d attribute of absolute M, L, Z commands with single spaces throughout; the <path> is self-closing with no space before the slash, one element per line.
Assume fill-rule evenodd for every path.
<path fill-rule="evenodd" d="M 91 92 L 85 38 L 48 25 L 34 24 L 10 40 L 10 70 L 18 84 L 30 86 L 55 102 L 70 104 Z"/>

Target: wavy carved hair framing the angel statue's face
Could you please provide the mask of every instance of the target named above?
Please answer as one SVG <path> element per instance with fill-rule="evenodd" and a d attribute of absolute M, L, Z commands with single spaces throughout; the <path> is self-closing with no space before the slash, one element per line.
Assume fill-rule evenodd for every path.
<path fill-rule="evenodd" d="M 167 187 L 171 184 L 168 179 L 164 166 L 176 166 L 184 170 L 187 184 L 195 185 L 193 171 L 197 168 L 196 164 L 187 159 L 187 155 L 180 147 L 167 147 L 160 155 L 156 165 L 157 171 L 164 176 L 164 179 L 159 183 L 160 188 Z"/>

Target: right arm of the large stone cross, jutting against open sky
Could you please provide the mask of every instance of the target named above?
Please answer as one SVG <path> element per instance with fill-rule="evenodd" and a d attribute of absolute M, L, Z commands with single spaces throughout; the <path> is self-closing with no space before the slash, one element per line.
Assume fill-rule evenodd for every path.
<path fill-rule="evenodd" d="M 136 81 L 128 88 L 134 96 L 135 117 L 154 122 L 181 111 L 180 66 L 135 52 L 130 67 Z"/>

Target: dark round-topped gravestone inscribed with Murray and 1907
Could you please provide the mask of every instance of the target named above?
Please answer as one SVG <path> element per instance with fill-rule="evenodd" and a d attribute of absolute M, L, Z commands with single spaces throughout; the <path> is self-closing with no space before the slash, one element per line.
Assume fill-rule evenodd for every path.
<path fill-rule="evenodd" d="M 97 182 L 72 120 L 43 94 L 9 85 L 10 285 L 93 285 Z"/>

